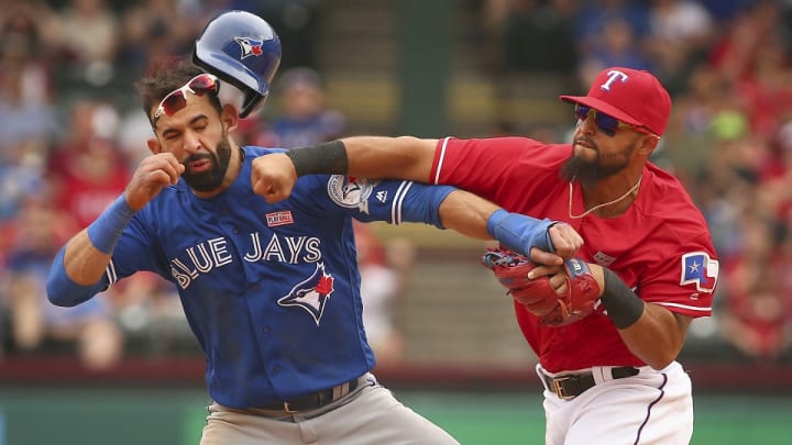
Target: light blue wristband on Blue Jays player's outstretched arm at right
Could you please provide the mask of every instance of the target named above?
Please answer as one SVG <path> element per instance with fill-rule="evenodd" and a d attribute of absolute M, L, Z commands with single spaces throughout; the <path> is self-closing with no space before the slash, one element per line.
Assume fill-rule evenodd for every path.
<path fill-rule="evenodd" d="M 504 246 L 524 255 L 530 255 L 531 247 L 554 253 L 548 233 L 554 223 L 548 219 L 537 220 L 498 209 L 487 219 L 487 233 Z"/>

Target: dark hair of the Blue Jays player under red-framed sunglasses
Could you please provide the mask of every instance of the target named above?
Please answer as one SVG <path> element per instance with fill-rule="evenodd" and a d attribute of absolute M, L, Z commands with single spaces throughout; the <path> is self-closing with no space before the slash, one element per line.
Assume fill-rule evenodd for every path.
<path fill-rule="evenodd" d="M 135 82 L 135 89 L 143 102 L 143 111 L 151 120 L 152 107 L 160 103 L 161 100 L 172 91 L 182 88 L 191 78 L 205 73 L 202 69 L 193 65 L 189 60 L 182 60 L 178 65 L 163 66 L 153 71 L 151 75 L 139 79 Z M 207 94 L 212 107 L 218 111 L 222 110 L 222 104 L 217 94 Z"/>

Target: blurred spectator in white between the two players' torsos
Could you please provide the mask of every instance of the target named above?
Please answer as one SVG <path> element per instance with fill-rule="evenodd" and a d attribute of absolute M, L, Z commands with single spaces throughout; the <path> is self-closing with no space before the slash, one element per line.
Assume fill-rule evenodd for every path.
<path fill-rule="evenodd" d="M 386 245 L 369 225 L 358 221 L 353 224 L 366 338 L 377 366 L 398 364 L 404 357 L 404 338 L 394 322 L 394 303 L 413 267 L 414 247 L 404 240 Z"/>

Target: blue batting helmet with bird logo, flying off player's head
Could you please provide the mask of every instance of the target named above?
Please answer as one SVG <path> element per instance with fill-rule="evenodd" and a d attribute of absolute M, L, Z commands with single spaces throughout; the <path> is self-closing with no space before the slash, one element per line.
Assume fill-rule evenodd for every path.
<path fill-rule="evenodd" d="M 270 93 L 280 65 L 280 40 L 264 19 L 227 11 L 210 20 L 196 38 L 193 63 L 242 90 L 240 118 L 245 118 Z"/>

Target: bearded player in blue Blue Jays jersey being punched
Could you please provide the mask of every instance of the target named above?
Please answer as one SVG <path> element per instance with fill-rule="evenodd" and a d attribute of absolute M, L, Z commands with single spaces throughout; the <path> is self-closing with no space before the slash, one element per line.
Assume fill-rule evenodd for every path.
<path fill-rule="evenodd" d="M 371 374 L 352 219 L 424 222 L 522 253 L 536 246 L 558 264 L 582 240 L 568 224 L 410 181 L 314 175 L 268 204 L 254 192 L 253 160 L 284 151 L 241 147 L 229 133 L 263 102 L 280 47 L 274 32 L 260 32 L 268 29 L 261 19 L 229 14 L 223 48 L 249 57 L 255 97 L 186 64 L 140 80 L 152 155 L 61 249 L 50 300 L 76 305 L 139 270 L 173 282 L 206 354 L 202 445 L 457 443 Z"/>

